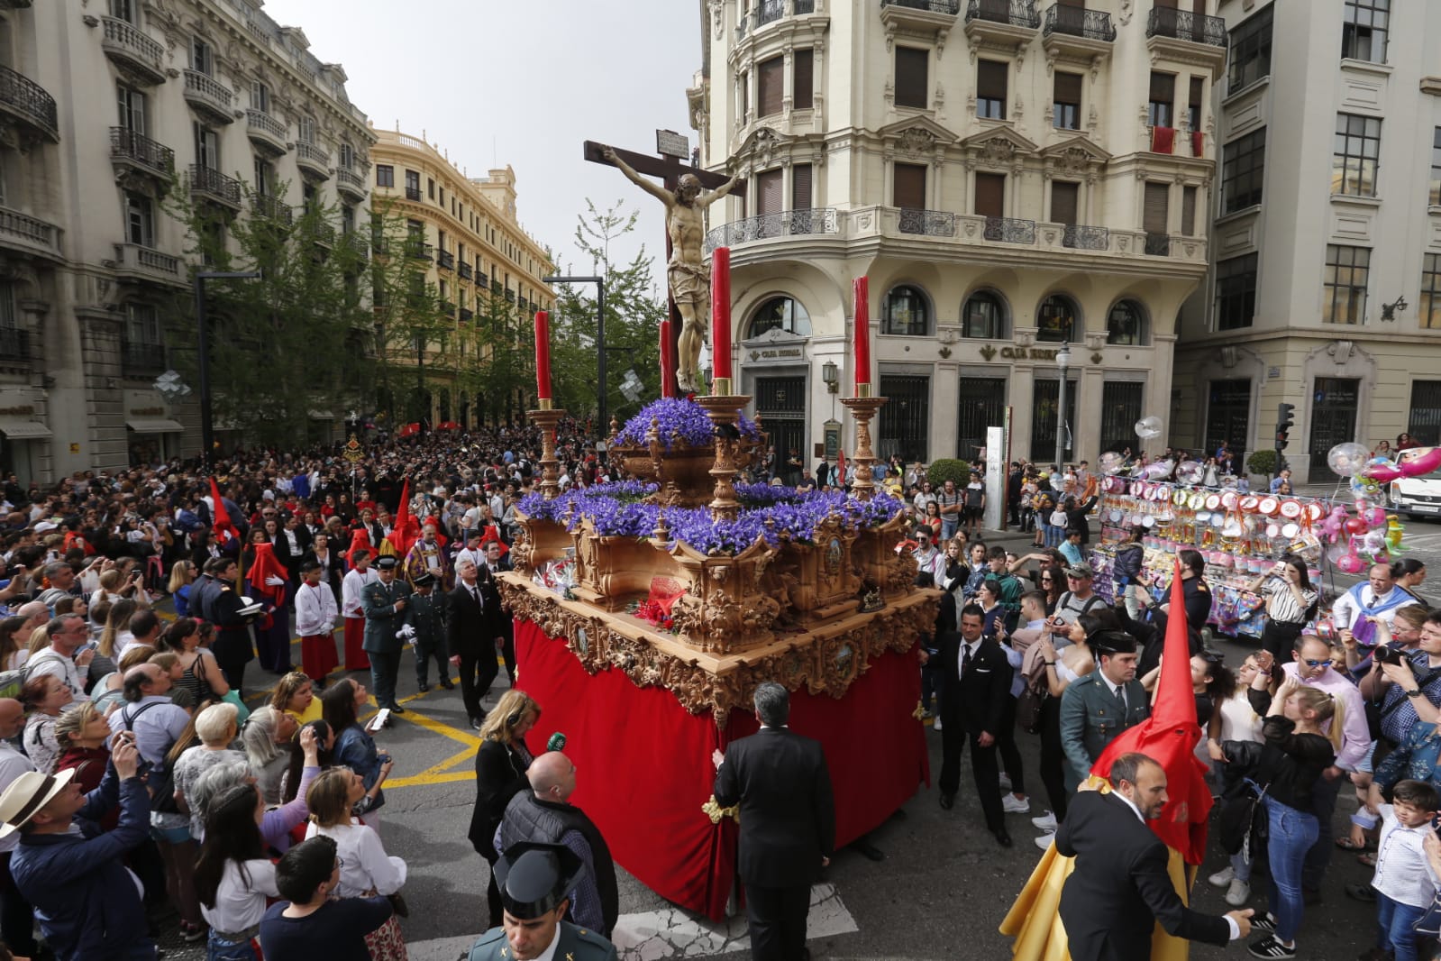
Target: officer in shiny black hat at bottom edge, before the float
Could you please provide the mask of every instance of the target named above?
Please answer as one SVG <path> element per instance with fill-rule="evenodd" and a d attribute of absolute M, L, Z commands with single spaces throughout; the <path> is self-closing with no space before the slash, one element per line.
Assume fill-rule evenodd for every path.
<path fill-rule="evenodd" d="M 610 941 L 562 921 L 566 893 L 585 873 L 579 854 L 565 844 L 519 841 L 494 870 L 504 921 L 480 935 L 470 961 L 617 961 Z"/>

